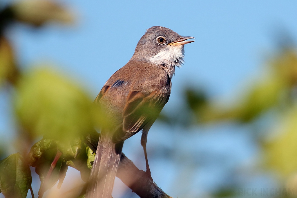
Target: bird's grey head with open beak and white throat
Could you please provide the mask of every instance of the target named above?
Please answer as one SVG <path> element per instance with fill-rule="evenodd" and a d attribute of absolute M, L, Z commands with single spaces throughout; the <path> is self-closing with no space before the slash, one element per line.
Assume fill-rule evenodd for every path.
<path fill-rule="evenodd" d="M 194 42 L 187 39 L 194 37 L 182 37 L 171 29 L 153 26 L 140 38 L 131 60 L 162 66 L 172 78 L 175 67 L 184 63 L 184 44 Z"/>

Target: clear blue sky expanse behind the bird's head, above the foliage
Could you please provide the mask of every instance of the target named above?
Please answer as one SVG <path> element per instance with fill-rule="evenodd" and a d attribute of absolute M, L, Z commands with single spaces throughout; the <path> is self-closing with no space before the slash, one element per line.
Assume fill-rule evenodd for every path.
<path fill-rule="evenodd" d="M 292 34 L 297 30 L 293 1 L 62 2 L 77 16 L 74 27 L 46 26 L 34 32 L 17 27 L 10 37 L 24 65 L 53 62 L 91 84 L 94 94 L 129 61 L 151 26 L 196 37 L 185 47 L 185 64 L 176 71 L 173 91 L 189 80 L 208 86 L 214 95 L 233 90 L 257 73 L 275 47 L 279 28 Z"/>

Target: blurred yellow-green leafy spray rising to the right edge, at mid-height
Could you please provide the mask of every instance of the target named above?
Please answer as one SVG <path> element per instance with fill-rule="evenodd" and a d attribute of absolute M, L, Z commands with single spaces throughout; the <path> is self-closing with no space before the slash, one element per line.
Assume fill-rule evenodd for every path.
<path fill-rule="evenodd" d="M 233 119 L 242 123 L 253 121 L 271 108 L 290 108 L 294 100 L 292 92 L 296 88 L 297 55 L 294 50 L 285 49 L 269 61 L 267 73 L 248 88 L 241 90 L 243 96 L 230 104 L 207 102 L 197 109 L 193 97 L 187 102 L 197 115 L 200 123 Z M 201 104 L 200 99 L 196 99 Z"/>

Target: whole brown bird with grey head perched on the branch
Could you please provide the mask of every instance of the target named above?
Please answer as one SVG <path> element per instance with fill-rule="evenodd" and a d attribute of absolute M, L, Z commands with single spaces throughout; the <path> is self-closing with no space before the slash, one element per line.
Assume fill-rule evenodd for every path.
<path fill-rule="evenodd" d="M 147 159 L 147 134 L 171 92 L 176 67 L 184 63 L 182 37 L 169 28 L 153 26 L 140 38 L 132 58 L 103 85 L 94 103 L 110 125 L 101 129 L 86 198 L 110 198 L 124 140 L 142 131 L 140 143 Z"/>

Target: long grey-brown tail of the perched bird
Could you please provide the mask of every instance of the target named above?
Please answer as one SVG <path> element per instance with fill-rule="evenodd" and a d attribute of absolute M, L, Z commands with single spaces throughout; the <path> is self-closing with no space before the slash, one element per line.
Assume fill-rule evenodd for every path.
<path fill-rule="evenodd" d="M 111 198 L 123 143 L 115 144 L 101 135 L 91 170 L 86 198 Z"/>

